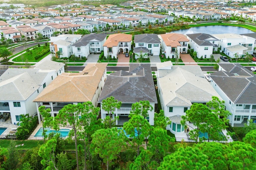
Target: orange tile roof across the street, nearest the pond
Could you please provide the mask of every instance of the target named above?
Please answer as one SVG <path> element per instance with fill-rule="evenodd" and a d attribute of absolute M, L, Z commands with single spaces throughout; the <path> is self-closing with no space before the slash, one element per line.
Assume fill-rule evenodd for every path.
<path fill-rule="evenodd" d="M 167 33 L 160 35 L 166 46 L 177 47 L 181 46 L 179 42 L 188 42 L 189 40 L 183 34 Z"/>

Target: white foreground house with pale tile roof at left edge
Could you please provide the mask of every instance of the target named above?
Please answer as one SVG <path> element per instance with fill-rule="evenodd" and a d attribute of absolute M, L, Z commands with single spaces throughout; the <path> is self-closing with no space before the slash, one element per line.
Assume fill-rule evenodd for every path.
<path fill-rule="evenodd" d="M 20 115 L 36 115 L 33 100 L 54 78 L 64 64 L 44 61 L 38 68 L 9 68 L 0 76 L 0 117 L 10 114 L 12 124 L 20 121 Z"/>

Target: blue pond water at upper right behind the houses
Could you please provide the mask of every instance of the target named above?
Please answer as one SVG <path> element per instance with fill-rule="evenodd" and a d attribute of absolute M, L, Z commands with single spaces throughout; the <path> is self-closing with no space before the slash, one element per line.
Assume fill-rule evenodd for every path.
<path fill-rule="evenodd" d="M 212 26 L 203 26 L 203 27 L 192 27 L 190 29 L 180 29 L 177 31 L 172 31 L 171 33 L 180 33 L 180 34 L 193 34 L 193 33 L 207 33 L 207 34 L 224 34 L 224 33 L 235 33 L 235 34 L 244 34 L 244 33 L 254 33 L 250 29 L 242 27 L 233 27 L 225 25 L 212 25 Z"/>

